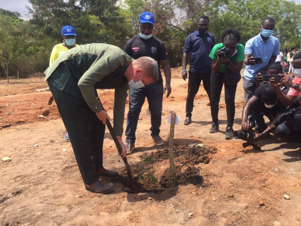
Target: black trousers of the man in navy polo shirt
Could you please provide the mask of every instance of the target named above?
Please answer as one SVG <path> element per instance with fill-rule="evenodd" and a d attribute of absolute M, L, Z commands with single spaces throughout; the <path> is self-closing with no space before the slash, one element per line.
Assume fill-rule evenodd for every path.
<path fill-rule="evenodd" d="M 204 89 L 210 100 L 210 72 L 205 74 L 189 72 L 188 94 L 186 98 L 186 117 L 191 118 L 192 116 L 191 112 L 193 110 L 194 97 L 199 91 L 202 80 Z"/>

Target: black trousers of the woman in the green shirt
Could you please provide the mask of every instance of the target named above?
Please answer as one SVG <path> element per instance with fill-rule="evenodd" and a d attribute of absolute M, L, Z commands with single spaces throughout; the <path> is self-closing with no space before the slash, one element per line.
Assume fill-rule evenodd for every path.
<path fill-rule="evenodd" d="M 217 124 L 219 115 L 219 100 L 222 93 L 222 87 L 224 80 L 224 74 L 211 74 L 211 95 L 210 95 L 210 107 L 212 121 Z M 235 93 L 236 85 L 225 84 L 225 103 L 227 111 L 227 127 L 233 127 L 234 115 L 235 115 Z"/>

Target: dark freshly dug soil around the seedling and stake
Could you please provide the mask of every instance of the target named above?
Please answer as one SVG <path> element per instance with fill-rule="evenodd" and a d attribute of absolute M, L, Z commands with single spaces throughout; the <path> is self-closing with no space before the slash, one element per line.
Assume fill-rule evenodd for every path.
<path fill-rule="evenodd" d="M 202 185 L 203 177 L 199 174 L 200 169 L 195 165 L 208 164 L 209 154 L 214 154 L 216 148 L 188 147 L 184 145 L 174 147 L 174 161 L 176 171 L 176 185 L 194 184 Z M 142 161 L 131 165 L 134 179 L 135 192 L 162 192 L 171 187 L 172 179 L 169 172 L 169 149 L 158 150 L 140 156 Z M 156 170 L 164 168 L 163 172 Z M 130 187 L 126 168 L 113 179 L 113 182 L 121 183 Z"/>

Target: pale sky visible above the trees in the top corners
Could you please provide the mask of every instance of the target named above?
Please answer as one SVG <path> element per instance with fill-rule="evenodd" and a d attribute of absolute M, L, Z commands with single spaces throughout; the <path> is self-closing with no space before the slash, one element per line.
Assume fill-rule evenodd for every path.
<path fill-rule="evenodd" d="M 295 0 L 295 2 L 296 4 L 301 4 L 301 0 Z M 25 8 L 25 5 L 29 5 L 29 7 L 31 7 L 31 4 L 28 2 L 28 0 L 0 0 L 0 8 L 9 11 L 17 11 L 21 14 L 21 17 L 26 20 L 27 9 Z M 28 19 L 30 19 L 30 15 Z"/>

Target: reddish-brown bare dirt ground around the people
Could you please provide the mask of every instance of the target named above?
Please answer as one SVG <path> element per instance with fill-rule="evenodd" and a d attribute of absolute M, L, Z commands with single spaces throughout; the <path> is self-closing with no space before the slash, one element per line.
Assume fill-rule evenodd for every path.
<path fill-rule="evenodd" d="M 183 125 L 187 81 L 172 70 L 172 94 L 163 99 L 161 136 L 167 140 L 169 111 L 181 116 L 175 126 L 175 145 L 203 143 L 216 147 L 209 164 L 199 163 L 201 186 L 189 183 L 161 193 L 130 194 L 114 182 L 107 195 L 87 192 L 70 142 L 55 103 L 48 106 L 50 92 L 44 78 L 0 81 L 0 224 L 1 225 L 301 225 L 300 144 L 286 143 L 273 136 L 262 140 L 262 151 L 243 149 L 241 140 L 225 140 L 226 113 L 221 96 L 220 132 L 211 134 L 209 99 L 200 87 L 194 102 L 192 124 Z M 113 115 L 113 90 L 99 90 L 109 115 Z M 242 80 L 236 93 L 234 129 L 240 128 L 244 105 Z M 167 147 L 154 146 L 150 116 L 145 102 L 136 132 L 136 149 L 130 164 L 139 156 Z M 128 105 L 126 106 L 126 112 Z M 7 115 L 11 112 L 11 115 Z M 46 118 L 38 119 L 44 114 Z M 125 128 L 125 125 L 124 125 Z M 123 137 L 123 139 L 125 139 Z M 41 143 L 38 146 L 34 144 Z M 67 149 L 63 152 L 62 149 Z M 114 143 L 106 131 L 104 166 L 124 170 Z M 168 168 L 168 161 L 155 162 L 155 176 Z M 108 178 L 101 178 L 110 182 Z M 284 199 L 284 195 L 290 200 Z M 263 202 L 262 206 L 259 205 Z"/>

